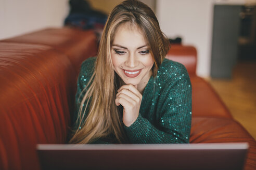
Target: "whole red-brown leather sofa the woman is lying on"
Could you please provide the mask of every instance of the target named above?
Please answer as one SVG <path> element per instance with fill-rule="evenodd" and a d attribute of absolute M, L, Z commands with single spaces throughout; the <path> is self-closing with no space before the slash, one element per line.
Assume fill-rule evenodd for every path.
<path fill-rule="evenodd" d="M 67 27 L 0 41 L 0 169 L 40 169 L 36 144 L 67 143 L 80 64 L 96 53 L 92 31 Z M 183 45 L 172 45 L 167 55 L 190 75 L 190 143 L 247 142 L 245 169 L 256 169 L 256 141 L 196 75 L 196 56 Z"/>

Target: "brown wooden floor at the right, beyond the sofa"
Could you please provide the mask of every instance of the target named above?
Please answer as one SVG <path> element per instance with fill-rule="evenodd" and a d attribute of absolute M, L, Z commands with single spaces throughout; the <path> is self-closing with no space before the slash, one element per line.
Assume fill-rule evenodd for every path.
<path fill-rule="evenodd" d="M 256 139 L 256 62 L 240 62 L 232 79 L 206 79 L 233 117 Z"/>

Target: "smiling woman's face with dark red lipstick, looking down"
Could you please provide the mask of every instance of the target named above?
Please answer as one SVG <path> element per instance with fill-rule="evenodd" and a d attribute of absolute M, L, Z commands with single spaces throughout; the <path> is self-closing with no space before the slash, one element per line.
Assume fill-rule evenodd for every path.
<path fill-rule="evenodd" d="M 118 27 L 111 47 L 111 59 L 115 72 L 125 84 L 146 86 L 154 63 L 149 50 L 137 26 L 122 24 Z"/>

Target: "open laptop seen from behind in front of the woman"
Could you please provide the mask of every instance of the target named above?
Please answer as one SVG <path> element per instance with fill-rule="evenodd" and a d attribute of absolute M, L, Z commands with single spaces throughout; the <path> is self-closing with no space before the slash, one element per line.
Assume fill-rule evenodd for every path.
<path fill-rule="evenodd" d="M 42 169 L 243 169 L 247 143 L 39 144 Z"/>

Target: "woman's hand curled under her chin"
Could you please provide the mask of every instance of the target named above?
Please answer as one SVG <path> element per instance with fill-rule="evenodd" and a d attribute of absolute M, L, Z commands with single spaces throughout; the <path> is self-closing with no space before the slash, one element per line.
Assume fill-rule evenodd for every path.
<path fill-rule="evenodd" d="M 118 89 L 116 105 L 123 106 L 123 123 L 127 127 L 132 125 L 138 118 L 142 94 L 137 90 L 137 85 L 126 84 Z"/>

